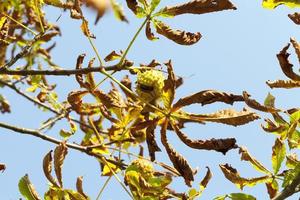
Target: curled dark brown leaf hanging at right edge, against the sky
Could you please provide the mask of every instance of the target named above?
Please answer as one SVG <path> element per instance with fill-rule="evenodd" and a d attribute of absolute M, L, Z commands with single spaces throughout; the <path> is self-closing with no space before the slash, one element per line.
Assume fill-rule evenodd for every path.
<path fill-rule="evenodd" d="M 277 59 L 279 61 L 281 70 L 287 77 L 294 81 L 300 81 L 300 76 L 293 71 L 293 65 L 288 60 L 290 54 L 287 53 L 287 50 L 289 46 L 290 44 L 287 44 L 285 47 L 283 47 L 279 54 L 277 54 Z"/>

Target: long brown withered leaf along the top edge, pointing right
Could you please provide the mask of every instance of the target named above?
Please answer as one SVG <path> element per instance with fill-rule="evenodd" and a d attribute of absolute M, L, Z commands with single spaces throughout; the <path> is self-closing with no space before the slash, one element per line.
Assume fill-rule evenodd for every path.
<path fill-rule="evenodd" d="M 167 6 L 161 12 L 165 15 L 176 16 L 182 14 L 204 14 L 222 10 L 236 10 L 229 0 L 192 0 L 190 2 Z"/>

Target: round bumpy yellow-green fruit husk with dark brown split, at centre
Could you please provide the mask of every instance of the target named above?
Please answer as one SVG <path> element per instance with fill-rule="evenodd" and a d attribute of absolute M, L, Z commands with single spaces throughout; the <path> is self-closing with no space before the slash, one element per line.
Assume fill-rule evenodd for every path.
<path fill-rule="evenodd" d="M 164 80 L 163 74 L 157 70 L 138 72 L 136 93 L 144 102 L 156 101 L 162 96 Z"/>

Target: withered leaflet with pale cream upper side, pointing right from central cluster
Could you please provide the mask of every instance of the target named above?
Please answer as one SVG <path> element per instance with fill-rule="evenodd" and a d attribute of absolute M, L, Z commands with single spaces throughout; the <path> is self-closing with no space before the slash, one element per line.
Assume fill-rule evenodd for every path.
<path fill-rule="evenodd" d="M 225 109 L 212 114 L 190 114 L 189 118 L 191 121 L 194 120 L 195 122 L 210 121 L 232 126 L 239 126 L 259 119 L 260 117 L 256 113 L 244 108 L 239 112 L 235 111 L 234 109 Z"/>

